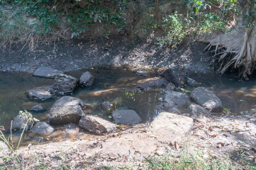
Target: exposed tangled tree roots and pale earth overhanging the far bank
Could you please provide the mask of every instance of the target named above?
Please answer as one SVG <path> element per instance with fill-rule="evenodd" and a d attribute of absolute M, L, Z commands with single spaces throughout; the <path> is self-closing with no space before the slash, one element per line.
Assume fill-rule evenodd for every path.
<path fill-rule="evenodd" d="M 200 40 L 207 42 L 207 40 Z M 208 41 L 209 42 L 209 41 Z M 215 49 L 211 49 L 215 46 Z M 239 75 L 247 79 L 252 74 L 256 60 L 256 26 L 218 35 L 204 51 L 211 52 L 212 62 L 219 62 L 219 73 L 225 73 L 231 66 L 239 69 Z M 212 54 L 213 53 L 213 54 Z"/>

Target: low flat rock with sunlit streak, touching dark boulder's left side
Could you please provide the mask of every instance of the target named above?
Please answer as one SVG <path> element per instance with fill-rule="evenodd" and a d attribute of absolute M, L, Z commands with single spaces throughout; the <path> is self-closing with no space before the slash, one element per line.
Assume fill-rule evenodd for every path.
<path fill-rule="evenodd" d="M 52 91 L 52 86 L 48 86 L 48 87 L 45 87 L 45 88 L 27 90 L 25 94 L 30 99 L 43 101 L 43 100 L 52 98 L 52 92 L 51 91 Z"/>

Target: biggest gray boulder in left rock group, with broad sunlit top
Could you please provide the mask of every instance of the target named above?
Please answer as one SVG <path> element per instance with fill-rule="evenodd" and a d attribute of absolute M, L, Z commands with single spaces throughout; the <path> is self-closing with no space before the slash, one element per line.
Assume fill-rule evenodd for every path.
<path fill-rule="evenodd" d="M 54 103 L 49 113 L 50 124 L 78 123 L 83 102 L 75 97 L 64 96 Z"/>

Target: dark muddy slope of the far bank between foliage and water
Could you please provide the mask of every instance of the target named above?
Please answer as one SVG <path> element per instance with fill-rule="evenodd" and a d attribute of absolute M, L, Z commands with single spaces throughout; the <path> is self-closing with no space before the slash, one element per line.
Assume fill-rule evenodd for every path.
<path fill-rule="evenodd" d="M 29 51 L 23 44 L 2 49 L 0 71 L 32 72 L 38 66 L 51 66 L 62 71 L 86 69 L 100 65 L 169 67 L 185 70 L 212 71 L 203 53 L 206 44 L 183 44 L 177 49 L 159 49 L 154 43 L 138 42 L 127 37 L 99 38 L 54 42 Z M 21 51 L 22 49 L 22 51 Z"/>

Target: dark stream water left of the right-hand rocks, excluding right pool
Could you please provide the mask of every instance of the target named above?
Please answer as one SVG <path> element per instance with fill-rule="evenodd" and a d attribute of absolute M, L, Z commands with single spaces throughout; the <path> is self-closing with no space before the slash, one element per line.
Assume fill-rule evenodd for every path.
<path fill-rule="evenodd" d="M 72 71 L 66 74 L 79 79 L 87 70 Z M 89 70 L 95 77 L 95 84 L 89 88 L 77 87 L 70 96 L 80 98 L 85 104 L 91 105 L 87 112 L 97 114 L 100 117 L 113 121 L 109 118 L 111 113 L 104 113 L 100 104 L 104 101 L 113 103 L 114 110 L 133 109 L 143 119 L 143 122 L 151 121 L 161 112 L 161 100 L 163 89 L 154 88 L 150 91 L 141 91 L 135 88 L 138 84 L 149 77 L 135 74 L 131 70 L 123 68 Z M 152 73 L 153 77 L 154 73 Z M 28 99 L 25 91 L 33 88 L 52 85 L 54 79 L 34 77 L 28 73 L 0 72 L 0 126 L 6 130 L 10 122 L 20 110 L 28 110 L 40 121 L 47 121 L 48 111 L 52 104 L 60 97 L 38 102 Z M 44 112 L 33 112 L 29 109 L 36 104 L 41 104 Z"/>

